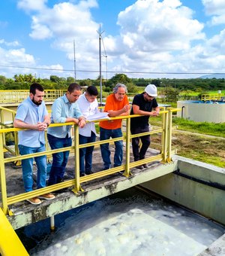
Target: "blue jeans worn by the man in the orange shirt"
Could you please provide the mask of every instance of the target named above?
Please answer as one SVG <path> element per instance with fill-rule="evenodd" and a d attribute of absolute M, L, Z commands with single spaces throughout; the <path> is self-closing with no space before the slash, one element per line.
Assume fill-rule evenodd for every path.
<path fill-rule="evenodd" d="M 108 130 L 100 127 L 100 140 L 110 139 L 110 137 L 118 138 L 122 136 L 121 128 Z M 114 167 L 121 166 L 123 160 L 123 142 L 118 141 L 114 142 L 115 144 L 115 154 L 114 154 Z M 101 157 L 104 160 L 104 169 L 110 169 L 111 160 L 110 160 L 110 148 L 109 143 L 100 145 L 101 147 Z"/>

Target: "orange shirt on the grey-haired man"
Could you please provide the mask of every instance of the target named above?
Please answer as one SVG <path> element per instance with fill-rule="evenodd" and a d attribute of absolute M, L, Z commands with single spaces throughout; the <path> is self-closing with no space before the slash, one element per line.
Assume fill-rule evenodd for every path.
<path fill-rule="evenodd" d="M 115 99 L 115 94 L 112 93 L 109 96 L 107 96 L 107 102 L 104 108 L 104 112 L 107 112 L 109 110 L 117 111 L 123 108 L 125 105 L 129 104 L 127 95 L 124 96 L 124 99 L 119 101 Z M 121 128 L 121 121 L 122 119 L 118 120 L 104 120 L 99 123 L 99 126 L 101 126 L 104 129 L 107 130 L 114 130 Z"/>

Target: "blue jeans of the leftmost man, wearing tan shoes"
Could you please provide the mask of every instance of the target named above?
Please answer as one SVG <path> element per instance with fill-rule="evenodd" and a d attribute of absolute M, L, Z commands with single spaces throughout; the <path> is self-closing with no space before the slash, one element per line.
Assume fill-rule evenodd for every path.
<path fill-rule="evenodd" d="M 21 155 L 45 151 L 45 145 L 41 143 L 38 148 L 19 145 Z M 33 161 L 37 164 L 37 188 L 46 186 L 46 156 L 31 157 L 22 160 L 23 184 L 26 192 L 33 190 Z"/>

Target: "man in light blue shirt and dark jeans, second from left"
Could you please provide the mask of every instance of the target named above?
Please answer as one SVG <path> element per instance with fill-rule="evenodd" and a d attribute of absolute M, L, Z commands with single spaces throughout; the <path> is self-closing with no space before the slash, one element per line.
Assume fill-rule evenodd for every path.
<path fill-rule="evenodd" d="M 74 122 L 81 128 L 86 125 L 86 120 L 77 105 L 80 94 L 80 85 L 74 83 L 69 85 L 64 96 L 55 99 L 52 104 L 52 123 Z M 72 145 L 71 125 L 49 127 L 47 137 L 52 149 L 70 147 Z M 70 151 L 52 154 L 53 161 L 49 173 L 49 185 L 63 181 L 69 154 Z"/>

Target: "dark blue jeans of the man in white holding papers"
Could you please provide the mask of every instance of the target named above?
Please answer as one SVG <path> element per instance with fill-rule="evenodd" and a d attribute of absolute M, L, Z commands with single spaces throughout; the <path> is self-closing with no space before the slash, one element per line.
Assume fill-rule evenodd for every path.
<path fill-rule="evenodd" d="M 89 142 L 95 142 L 96 135 L 92 132 L 91 137 L 86 137 L 79 135 L 79 143 L 85 144 Z M 80 148 L 80 173 L 88 174 L 92 171 L 92 153 L 94 151 L 94 146 L 87 148 Z"/>

